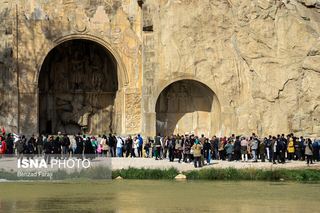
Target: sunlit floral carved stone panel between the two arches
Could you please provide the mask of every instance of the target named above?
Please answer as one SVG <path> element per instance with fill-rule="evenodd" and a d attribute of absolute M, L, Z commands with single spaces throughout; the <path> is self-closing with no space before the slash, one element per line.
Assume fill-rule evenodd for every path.
<path fill-rule="evenodd" d="M 136 133 L 140 131 L 141 97 L 136 94 L 125 95 L 125 132 Z"/>

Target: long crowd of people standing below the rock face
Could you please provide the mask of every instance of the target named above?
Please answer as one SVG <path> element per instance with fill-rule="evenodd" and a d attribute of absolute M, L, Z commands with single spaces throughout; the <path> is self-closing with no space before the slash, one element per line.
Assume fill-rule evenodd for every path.
<path fill-rule="evenodd" d="M 29 140 L 25 136 L 7 134 L 4 129 L 0 136 L 0 154 L 4 156 L 15 155 L 18 159 L 25 156 L 27 159 L 33 157 L 44 157 L 50 163 L 50 156 L 54 159 L 68 159 L 95 157 L 145 157 L 155 160 L 169 159 L 178 163 L 194 164 L 194 167 L 202 167 L 204 159 L 209 165 L 211 160 L 247 162 L 252 159 L 254 163 L 271 162 L 273 164 L 284 164 L 286 161 L 319 161 L 320 141 L 310 138 L 295 137 L 292 133 L 284 137 L 284 134 L 268 138 L 258 138 L 254 133 L 252 136 L 216 137 L 211 139 L 195 135 L 171 135 L 162 137 L 160 133 L 154 138 L 142 139 L 137 136 L 122 138 L 109 133 L 108 135 L 80 136 L 80 133 L 69 137 L 60 132 L 55 136 L 32 135 Z"/>

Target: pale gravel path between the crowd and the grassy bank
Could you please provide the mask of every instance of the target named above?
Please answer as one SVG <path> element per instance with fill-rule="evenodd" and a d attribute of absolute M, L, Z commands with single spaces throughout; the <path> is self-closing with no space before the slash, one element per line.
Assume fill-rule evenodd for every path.
<path fill-rule="evenodd" d="M 35 158 L 40 161 L 42 158 Z M 75 158 L 70 158 L 72 160 L 75 160 Z M 254 167 L 259 169 L 270 169 L 270 168 L 286 168 L 286 169 L 320 169 L 320 162 L 315 162 L 313 165 L 310 165 L 310 167 L 306 167 L 305 161 L 287 161 L 285 164 L 276 164 L 272 165 L 272 163 L 269 162 L 258 162 L 258 163 L 252 163 L 253 160 L 248 160 L 248 162 L 227 162 L 227 161 L 216 161 L 211 160 L 210 165 L 203 165 L 203 168 L 228 168 L 233 167 L 236 169 L 241 168 L 248 168 L 248 167 Z M 260 161 L 260 160 L 259 160 Z M 206 162 L 204 160 L 204 162 Z M 170 167 L 175 167 L 179 171 L 190 171 L 195 170 L 193 163 L 192 164 L 178 164 L 177 159 L 174 159 L 174 162 L 169 162 L 168 159 L 163 159 L 159 161 L 155 161 L 153 159 L 149 158 L 96 158 L 93 161 L 90 161 L 90 165 L 111 165 L 112 170 L 116 169 L 126 169 L 128 167 L 134 167 L 134 168 L 150 168 L 150 169 L 168 169 Z M 85 166 L 87 163 L 85 163 Z M 63 166 L 61 166 L 63 167 Z M 80 169 L 82 168 L 80 164 Z M 41 168 L 41 169 L 35 169 L 35 168 L 17 168 L 17 162 L 16 158 L 0 158 L 0 169 L 4 169 L 5 171 L 10 171 L 11 169 L 14 172 L 19 171 L 54 171 L 57 170 L 57 166 L 53 166 L 53 168 Z M 62 168 L 63 169 L 63 168 Z M 68 171 L 73 171 L 74 168 L 69 169 L 65 168 Z M 200 169 L 200 168 L 197 168 Z"/>

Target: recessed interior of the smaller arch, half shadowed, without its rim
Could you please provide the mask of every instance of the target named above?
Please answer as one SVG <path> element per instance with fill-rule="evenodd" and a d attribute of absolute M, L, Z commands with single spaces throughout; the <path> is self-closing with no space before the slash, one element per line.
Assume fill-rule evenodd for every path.
<path fill-rule="evenodd" d="M 200 84 L 180 80 L 160 93 L 155 107 L 157 132 L 170 135 L 192 130 L 206 133 L 211 129 L 212 106 L 218 103 L 213 101 L 214 93 Z"/>

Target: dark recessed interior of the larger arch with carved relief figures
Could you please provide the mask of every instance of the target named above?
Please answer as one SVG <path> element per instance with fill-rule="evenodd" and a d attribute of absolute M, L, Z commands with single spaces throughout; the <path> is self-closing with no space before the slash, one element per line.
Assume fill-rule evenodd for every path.
<path fill-rule="evenodd" d="M 114 73 L 110 58 L 94 43 L 70 40 L 53 49 L 39 76 L 39 115 L 43 118 L 39 131 L 100 130 L 96 126 L 101 124 L 91 118 L 98 114 L 104 119 L 103 125 L 110 122 L 110 106 L 117 90 Z"/>

